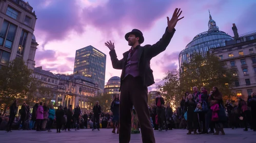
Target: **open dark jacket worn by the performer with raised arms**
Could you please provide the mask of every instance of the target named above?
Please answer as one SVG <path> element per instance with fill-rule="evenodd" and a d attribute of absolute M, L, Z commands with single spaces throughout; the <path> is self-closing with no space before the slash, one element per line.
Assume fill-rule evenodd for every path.
<path fill-rule="evenodd" d="M 171 41 L 171 38 L 176 31 L 173 29 L 173 32 L 168 32 L 168 28 L 166 28 L 165 33 L 163 37 L 156 42 L 153 45 L 145 45 L 145 46 L 139 46 L 137 50 L 138 51 L 138 67 L 139 67 L 139 77 L 142 79 L 143 86 L 150 86 L 154 84 L 154 77 L 153 77 L 153 70 L 150 68 L 150 60 L 155 57 L 156 55 L 160 54 L 161 52 L 165 51 L 166 47 Z M 125 78 L 125 65 L 127 63 L 127 57 L 129 55 L 129 52 L 125 52 L 123 54 L 123 59 L 118 60 L 115 50 L 111 50 L 109 52 L 111 61 L 112 61 L 112 66 L 115 69 L 122 69 L 122 74 L 121 74 L 121 85 L 122 86 L 122 81 Z"/>

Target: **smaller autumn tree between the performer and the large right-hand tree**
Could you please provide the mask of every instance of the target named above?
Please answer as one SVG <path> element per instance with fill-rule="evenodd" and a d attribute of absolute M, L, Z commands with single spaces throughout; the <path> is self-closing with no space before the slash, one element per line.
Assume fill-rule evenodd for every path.
<path fill-rule="evenodd" d="M 178 107 L 183 96 L 182 88 L 180 86 L 179 71 L 176 69 L 169 70 L 165 73 L 163 81 L 164 83 L 156 85 L 156 88 L 162 92 L 165 104 L 170 104 L 172 108 Z"/>

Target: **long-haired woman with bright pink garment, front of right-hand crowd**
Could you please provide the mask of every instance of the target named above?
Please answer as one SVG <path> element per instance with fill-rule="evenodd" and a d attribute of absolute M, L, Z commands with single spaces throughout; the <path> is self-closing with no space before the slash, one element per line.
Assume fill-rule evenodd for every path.
<path fill-rule="evenodd" d="M 226 113 L 223 110 L 224 105 L 223 105 L 223 100 L 222 100 L 222 93 L 219 91 L 218 87 L 213 87 L 212 88 L 212 94 L 210 97 L 208 97 L 208 103 L 210 106 L 210 109 L 212 110 L 212 121 L 213 121 L 213 117 L 218 118 L 217 120 L 214 120 L 214 124 L 215 124 L 215 130 L 216 132 L 214 133 L 214 135 L 219 135 L 220 131 L 222 133 L 222 135 L 225 135 L 225 132 L 223 130 L 223 122 L 225 122 L 225 117 L 226 117 Z M 221 114 L 222 111 L 224 111 L 224 115 Z M 216 115 L 216 116 L 213 116 Z"/>

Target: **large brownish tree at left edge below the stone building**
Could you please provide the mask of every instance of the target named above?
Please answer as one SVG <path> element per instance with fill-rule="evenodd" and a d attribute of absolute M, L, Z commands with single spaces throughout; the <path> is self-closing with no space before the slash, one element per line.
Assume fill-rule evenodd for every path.
<path fill-rule="evenodd" d="M 6 108 L 15 99 L 27 98 L 33 71 L 25 65 L 22 58 L 10 61 L 0 69 L 0 101 Z"/>

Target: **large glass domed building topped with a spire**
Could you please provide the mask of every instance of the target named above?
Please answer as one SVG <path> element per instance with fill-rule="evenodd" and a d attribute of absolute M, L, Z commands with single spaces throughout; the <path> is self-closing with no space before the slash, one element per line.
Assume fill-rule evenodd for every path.
<path fill-rule="evenodd" d="M 209 12 L 208 31 L 196 35 L 191 42 L 187 44 L 179 55 L 179 66 L 183 63 L 189 63 L 192 55 L 200 54 L 206 56 L 209 49 L 215 47 L 226 46 L 225 41 L 233 40 L 233 38 L 223 31 L 219 30 L 216 22 L 212 19 Z"/>

